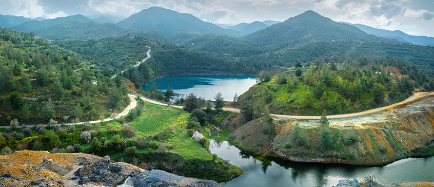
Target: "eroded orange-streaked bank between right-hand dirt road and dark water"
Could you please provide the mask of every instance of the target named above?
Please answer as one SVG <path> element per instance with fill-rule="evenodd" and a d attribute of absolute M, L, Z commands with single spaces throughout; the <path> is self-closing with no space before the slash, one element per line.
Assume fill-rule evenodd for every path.
<path fill-rule="evenodd" d="M 434 155 L 431 95 L 366 115 L 329 120 L 275 118 L 269 125 L 274 134 L 273 130 L 261 134 L 258 129 L 264 120 L 255 120 L 234 130 L 229 140 L 245 151 L 297 162 L 382 165 Z M 268 143 L 263 142 L 266 138 Z"/>

